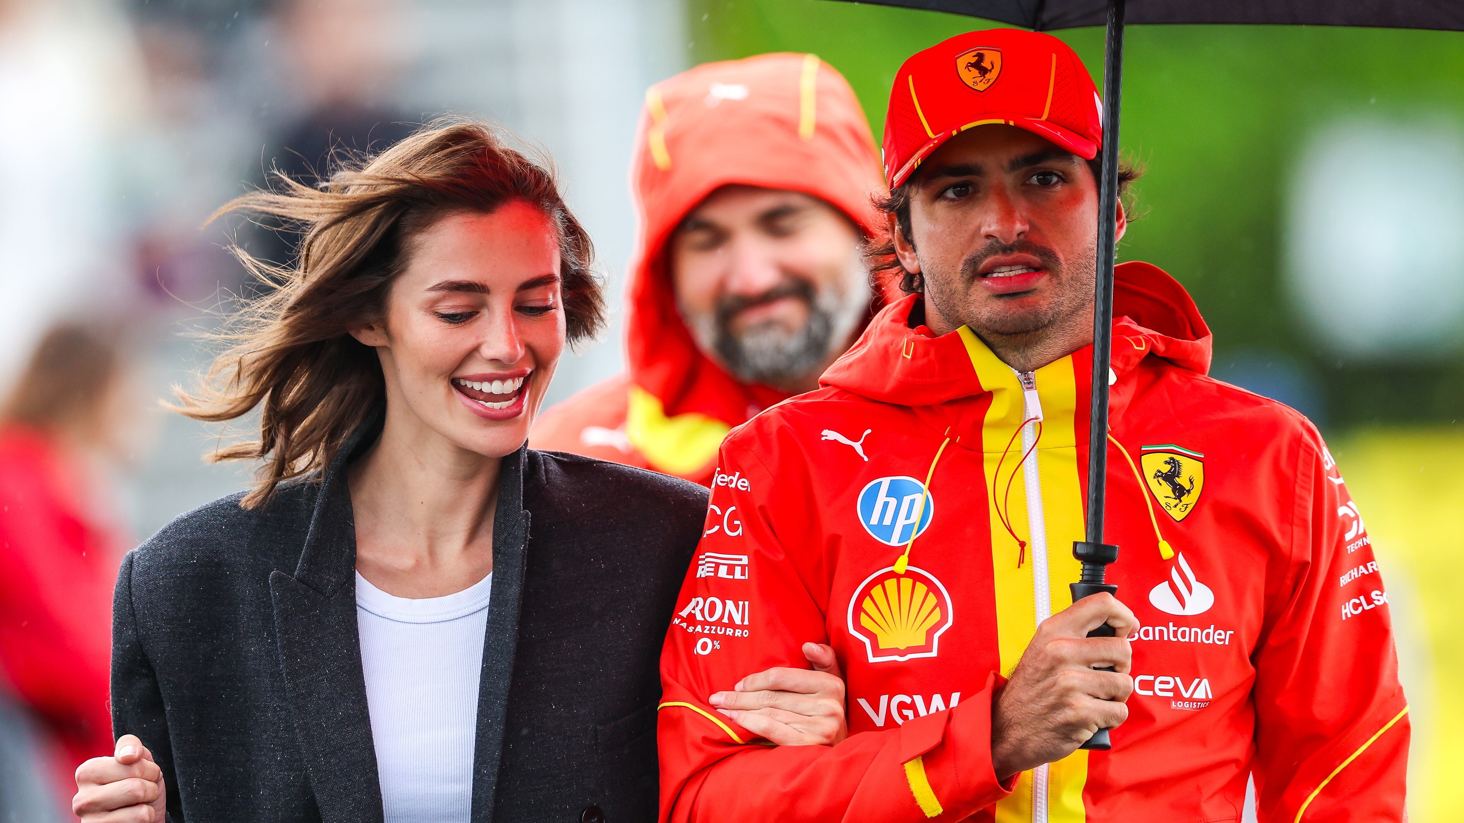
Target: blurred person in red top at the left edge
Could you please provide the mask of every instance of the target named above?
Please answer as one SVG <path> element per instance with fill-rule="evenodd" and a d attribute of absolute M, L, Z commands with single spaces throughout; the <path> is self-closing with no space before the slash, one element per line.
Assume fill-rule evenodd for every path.
<path fill-rule="evenodd" d="M 141 409 L 117 334 L 64 324 L 0 407 L 0 669 L 54 747 L 61 797 L 111 747 L 111 589 L 127 548 L 108 474 Z"/>

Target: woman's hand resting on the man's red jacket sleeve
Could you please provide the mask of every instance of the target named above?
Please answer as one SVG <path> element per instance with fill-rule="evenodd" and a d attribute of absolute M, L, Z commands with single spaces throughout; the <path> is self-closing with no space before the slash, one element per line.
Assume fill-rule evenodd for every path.
<path fill-rule="evenodd" d="M 813 671 L 772 668 L 713 694 L 709 703 L 777 745 L 833 745 L 849 737 L 843 674 L 830 646 L 804 643 L 804 658 Z"/>

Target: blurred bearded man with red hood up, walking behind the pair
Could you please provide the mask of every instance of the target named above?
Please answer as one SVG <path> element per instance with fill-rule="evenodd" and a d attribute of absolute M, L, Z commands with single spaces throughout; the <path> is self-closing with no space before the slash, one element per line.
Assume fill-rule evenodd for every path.
<path fill-rule="evenodd" d="M 651 86 L 635 151 L 628 370 L 546 411 L 531 444 L 710 485 L 722 438 L 817 388 L 868 321 L 880 164 L 854 91 L 813 54 Z"/>

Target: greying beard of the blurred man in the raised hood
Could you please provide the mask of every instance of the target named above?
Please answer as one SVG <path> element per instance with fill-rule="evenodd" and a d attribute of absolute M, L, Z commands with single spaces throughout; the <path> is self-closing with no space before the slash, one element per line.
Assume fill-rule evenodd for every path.
<path fill-rule="evenodd" d="M 843 286 L 842 288 L 839 286 Z M 808 321 L 798 329 L 769 321 L 735 334 L 732 316 L 748 306 L 780 297 L 798 297 L 808 306 Z M 851 269 L 842 284 L 821 291 L 802 278 L 789 277 L 757 297 L 723 297 L 712 313 L 681 309 L 697 346 L 714 357 L 735 378 L 772 387 L 792 387 L 817 378 L 829 360 L 864 319 L 870 306 L 868 272 L 862 264 Z"/>

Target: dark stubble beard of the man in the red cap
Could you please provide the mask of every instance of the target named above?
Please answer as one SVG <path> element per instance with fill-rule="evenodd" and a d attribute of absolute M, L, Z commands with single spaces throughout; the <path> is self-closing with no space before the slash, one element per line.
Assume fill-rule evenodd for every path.
<path fill-rule="evenodd" d="M 976 271 L 991 256 L 1026 253 L 1042 261 L 1056 286 L 1047 305 L 1026 312 L 1007 310 L 1003 297 L 996 297 L 994 306 L 978 310 L 975 306 L 950 294 L 941 284 L 975 284 Z M 1012 245 L 988 243 L 972 252 L 960 264 L 956 275 L 922 275 L 925 297 L 947 321 L 969 327 L 1007 365 L 1017 370 L 1035 370 L 1064 357 L 1092 341 L 1094 280 L 1097 277 L 1097 243 L 1085 247 L 1069 261 L 1063 261 L 1048 246 L 1017 242 Z M 921 269 L 930 268 L 921 264 Z M 1085 331 L 1086 329 L 1086 331 Z"/>

